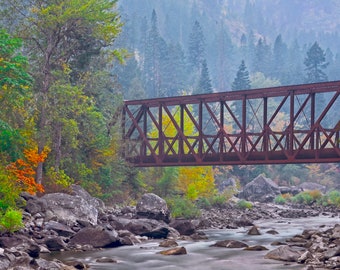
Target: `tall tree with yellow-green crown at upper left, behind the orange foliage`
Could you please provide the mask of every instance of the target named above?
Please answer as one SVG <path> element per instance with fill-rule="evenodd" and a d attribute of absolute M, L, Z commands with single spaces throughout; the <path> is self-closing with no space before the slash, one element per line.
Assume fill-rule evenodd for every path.
<path fill-rule="evenodd" d="M 99 56 L 102 49 L 107 55 L 120 58 L 122 55 L 112 49 L 121 31 L 116 0 L 52 0 L 8 1 L 2 0 L 4 18 L 7 24 L 16 27 L 16 34 L 23 38 L 30 61 L 34 64 L 34 86 L 37 112 L 37 142 L 41 153 L 48 144 L 55 144 L 58 132 L 51 127 L 58 123 L 51 118 L 51 106 L 67 106 L 65 99 L 53 100 L 51 89 L 58 88 L 56 72 L 71 69 L 69 87 L 77 84 L 89 71 L 89 63 Z M 58 97 L 54 97 L 58 98 Z M 70 112 L 72 114 L 72 112 Z M 56 125 L 51 123 L 55 123 Z M 57 162 L 57 155 L 53 157 Z M 42 182 L 43 164 L 37 169 L 37 182 Z"/>

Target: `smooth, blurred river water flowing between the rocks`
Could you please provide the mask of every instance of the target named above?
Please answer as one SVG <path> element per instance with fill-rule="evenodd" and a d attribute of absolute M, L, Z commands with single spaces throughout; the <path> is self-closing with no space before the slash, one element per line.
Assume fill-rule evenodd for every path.
<path fill-rule="evenodd" d="M 257 221 L 261 235 L 249 236 L 249 228 L 239 229 L 211 229 L 204 232 L 208 240 L 178 241 L 179 246 L 187 249 L 187 255 L 164 256 L 158 254 L 166 248 L 158 247 L 159 241 L 147 241 L 135 246 L 123 246 L 119 248 L 104 249 L 88 252 L 63 252 L 49 255 L 48 259 L 57 258 L 64 262 L 79 260 L 90 266 L 90 269 L 193 269 L 193 270 L 266 270 L 266 269 L 303 269 L 304 265 L 285 263 L 281 261 L 264 259 L 268 251 L 244 251 L 242 249 L 227 249 L 210 247 L 218 240 L 240 240 L 249 246 L 263 245 L 269 250 L 277 248 L 271 246 L 273 241 L 285 241 L 296 234 L 301 234 L 304 229 L 320 229 L 320 225 L 326 225 L 321 230 L 333 227 L 340 223 L 339 217 L 319 216 L 300 219 L 276 219 Z M 274 229 L 279 234 L 272 235 L 266 231 Z M 98 258 L 108 257 L 118 263 L 98 263 Z"/>

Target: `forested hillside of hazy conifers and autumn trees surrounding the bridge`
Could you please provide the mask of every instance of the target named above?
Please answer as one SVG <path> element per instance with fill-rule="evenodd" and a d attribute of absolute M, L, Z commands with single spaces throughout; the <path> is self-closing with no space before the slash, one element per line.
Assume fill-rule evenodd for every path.
<path fill-rule="evenodd" d="M 155 192 L 183 208 L 225 199 L 229 177 L 337 184 L 338 164 L 136 169 L 115 125 L 124 99 L 340 79 L 337 1 L 0 3 L 2 213 L 22 191 L 73 183 L 109 203 Z"/>

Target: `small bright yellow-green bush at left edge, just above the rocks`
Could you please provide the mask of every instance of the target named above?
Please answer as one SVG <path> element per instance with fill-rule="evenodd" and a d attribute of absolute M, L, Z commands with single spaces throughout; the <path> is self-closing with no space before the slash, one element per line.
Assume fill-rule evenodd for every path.
<path fill-rule="evenodd" d="M 0 217 L 1 232 L 13 233 L 20 230 L 23 226 L 21 211 L 8 208 Z"/>

